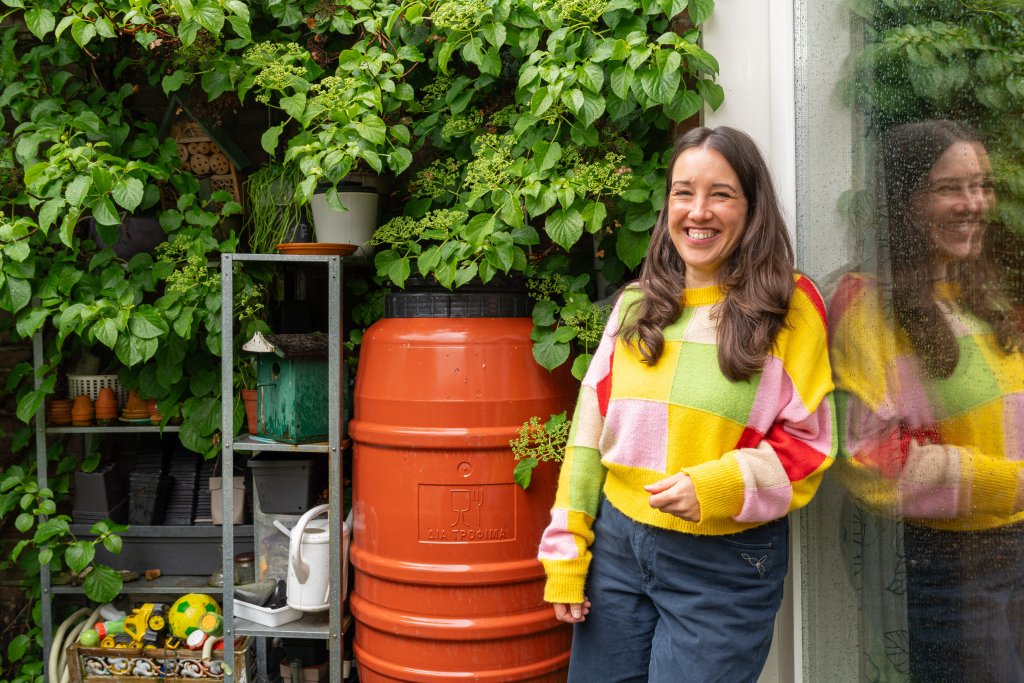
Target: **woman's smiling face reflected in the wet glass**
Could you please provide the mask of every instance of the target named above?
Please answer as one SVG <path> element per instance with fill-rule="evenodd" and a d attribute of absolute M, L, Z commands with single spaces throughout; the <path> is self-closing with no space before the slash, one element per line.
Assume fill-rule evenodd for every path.
<path fill-rule="evenodd" d="M 985 213 L 994 203 L 976 145 L 950 145 L 911 198 L 910 218 L 928 236 L 936 267 L 975 258 L 985 234 Z"/>

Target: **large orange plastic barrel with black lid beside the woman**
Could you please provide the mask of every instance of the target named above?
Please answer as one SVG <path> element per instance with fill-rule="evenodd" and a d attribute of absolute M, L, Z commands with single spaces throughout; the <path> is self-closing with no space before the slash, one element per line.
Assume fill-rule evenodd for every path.
<path fill-rule="evenodd" d="M 388 308 L 453 305 L 423 303 Z M 493 308 L 455 302 L 456 314 Z M 571 628 L 544 603 L 536 559 L 557 465 L 535 469 L 524 492 L 509 440 L 531 416 L 571 410 L 577 385 L 534 360 L 531 325 L 385 317 L 364 336 L 349 424 L 350 606 L 364 683 L 565 680 Z"/>

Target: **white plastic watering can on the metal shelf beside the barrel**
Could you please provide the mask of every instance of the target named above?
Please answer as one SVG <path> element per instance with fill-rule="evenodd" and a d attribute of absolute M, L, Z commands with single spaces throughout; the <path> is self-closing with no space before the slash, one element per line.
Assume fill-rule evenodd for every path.
<path fill-rule="evenodd" d="M 328 520 L 311 521 L 330 506 L 317 505 L 299 517 L 291 530 L 274 519 L 273 525 L 290 539 L 288 546 L 288 606 L 306 612 L 330 606 L 331 532 Z"/>

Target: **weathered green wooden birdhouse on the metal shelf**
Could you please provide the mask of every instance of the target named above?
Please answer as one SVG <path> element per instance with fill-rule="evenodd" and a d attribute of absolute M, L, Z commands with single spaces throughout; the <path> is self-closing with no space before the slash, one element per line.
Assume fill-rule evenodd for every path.
<path fill-rule="evenodd" d="M 259 436 L 284 443 L 328 439 L 327 335 L 262 335 L 243 346 L 256 360 Z"/>

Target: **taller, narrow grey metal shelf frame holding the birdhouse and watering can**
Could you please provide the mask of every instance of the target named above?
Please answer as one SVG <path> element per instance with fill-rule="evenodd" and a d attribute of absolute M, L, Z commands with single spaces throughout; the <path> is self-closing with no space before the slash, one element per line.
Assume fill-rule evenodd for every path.
<path fill-rule="evenodd" d="M 233 349 L 231 347 L 230 330 L 234 326 L 234 310 L 232 292 L 234 289 L 234 264 L 245 262 L 269 262 L 269 263 L 298 263 L 310 265 L 326 265 L 328 268 L 328 377 L 329 399 L 328 415 L 328 441 L 326 443 L 304 443 L 293 445 L 290 443 L 280 443 L 262 438 L 243 437 L 234 439 L 226 436 L 221 439 L 221 472 L 230 473 L 234 468 L 234 454 L 237 452 L 259 453 L 264 451 L 274 451 L 282 453 L 309 454 L 323 453 L 328 458 L 328 485 L 330 514 L 328 525 L 331 536 L 330 565 L 331 588 L 330 594 L 333 596 L 331 607 L 327 618 L 324 614 L 307 614 L 302 620 L 285 624 L 278 627 L 266 627 L 260 624 L 236 618 L 234 616 L 234 568 L 232 558 L 234 556 L 233 529 L 230 525 L 224 525 L 222 532 L 223 547 L 223 611 L 224 611 L 224 660 L 232 661 L 234 658 L 234 637 L 253 636 L 257 640 L 257 672 L 259 680 L 266 680 L 266 672 L 263 670 L 266 663 L 266 641 L 267 637 L 278 638 L 315 638 L 328 641 L 328 651 L 330 652 L 331 675 L 333 680 L 340 680 L 343 659 L 342 643 L 344 635 L 344 623 L 342 621 L 342 605 L 340 596 L 341 586 L 341 540 L 342 540 L 342 495 L 341 495 L 341 258 L 338 256 L 325 255 L 275 255 L 275 254 L 221 254 L 220 257 L 220 278 L 221 278 L 221 395 L 230 396 L 233 393 Z M 221 402 L 221 434 L 230 435 L 233 433 L 233 415 L 231 401 Z M 225 474 L 224 476 L 228 476 Z M 222 512 L 224 519 L 231 519 L 234 510 L 234 493 L 230 486 L 225 486 L 223 490 Z M 234 677 L 230 674 L 224 677 L 224 683 L 233 683 Z"/>

